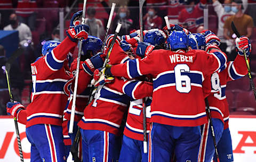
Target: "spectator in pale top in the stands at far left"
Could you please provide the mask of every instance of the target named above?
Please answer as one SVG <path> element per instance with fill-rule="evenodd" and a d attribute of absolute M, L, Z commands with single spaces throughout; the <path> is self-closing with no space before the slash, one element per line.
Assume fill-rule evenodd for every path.
<path fill-rule="evenodd" d="M 32 33 L 29 27 L 22 22 L 19 22 L 17 15 L 12 13 L 9 17 L 10 24 L 4 27 L 4 30 L 18 30 L 19 31 L 19 45 L 28 46 L 32 41 Z"/>

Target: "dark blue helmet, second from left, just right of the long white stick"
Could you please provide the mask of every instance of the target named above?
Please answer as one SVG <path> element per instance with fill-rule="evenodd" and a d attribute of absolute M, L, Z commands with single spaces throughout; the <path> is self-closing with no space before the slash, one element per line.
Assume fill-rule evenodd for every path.
<path fill-rule="evenodd" d="M 88 36 L 87 39 L 83 40 L 82 50 L 84 54 L 87 50 L 91 50 L 93 54 L 96 54 L 102 48 L 102 41 L 98 37 Z"/>

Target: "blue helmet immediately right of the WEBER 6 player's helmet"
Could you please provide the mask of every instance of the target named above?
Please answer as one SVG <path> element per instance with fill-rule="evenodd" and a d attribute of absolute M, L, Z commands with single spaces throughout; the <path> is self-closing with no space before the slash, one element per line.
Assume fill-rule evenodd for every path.
<path fill-rule="evenodd" d="M 193 33 L 188 35 L 188 46 L 192 49 L 202 49 L 205 48 L 205 39 L 201 33 Z"/>

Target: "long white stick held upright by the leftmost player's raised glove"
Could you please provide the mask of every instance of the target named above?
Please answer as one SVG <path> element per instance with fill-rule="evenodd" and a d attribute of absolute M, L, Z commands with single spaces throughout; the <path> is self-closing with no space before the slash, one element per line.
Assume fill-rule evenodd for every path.
<path fill-rule="evenodd" d="M 86 1 L 87 0 L 84 0 L 83 14 L 82 14 L 82 24 L 85 24 Z M 79 66 L 80 66 L 80 59 L 81 59 L 81 53 L 82 53 L 83 38 L 79 39 L 78 42 L 79 42 L 79 44 L 78 44 L 78 55 L 77 55 L 77 65 L 76 65 L 76 79 L 75 79 L 73 103 L 72 103 L 72 107 L 71 107 L 71 115 L 70 115 L 68 133 L 73 133 L 74 118 L 75 118 L 75 107 L 76 107 L 77 83 L 78 83 Z"/>

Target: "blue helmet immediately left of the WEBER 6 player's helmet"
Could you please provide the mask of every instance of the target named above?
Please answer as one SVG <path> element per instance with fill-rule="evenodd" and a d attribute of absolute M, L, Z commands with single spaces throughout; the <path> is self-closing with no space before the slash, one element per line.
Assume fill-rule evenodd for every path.
<path fill-rule="evenodd" d="M 153 46 L 161 46 L 165 42 L 165 33 L 158 29 L 151 29 L 148 30 L 143 37 L 144 42 L 148 42 L 150 45 Z"/>

